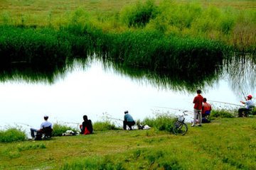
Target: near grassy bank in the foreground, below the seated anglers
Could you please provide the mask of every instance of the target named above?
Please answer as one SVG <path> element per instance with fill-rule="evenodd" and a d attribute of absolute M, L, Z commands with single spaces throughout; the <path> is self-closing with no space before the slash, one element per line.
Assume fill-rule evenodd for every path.
<path fill-rule="evenodd" d="M 0 169 L 254 169 L 255 130 L 255 117 L 221 118 L 182 137 L 110 130 L 0 143 Z"/>

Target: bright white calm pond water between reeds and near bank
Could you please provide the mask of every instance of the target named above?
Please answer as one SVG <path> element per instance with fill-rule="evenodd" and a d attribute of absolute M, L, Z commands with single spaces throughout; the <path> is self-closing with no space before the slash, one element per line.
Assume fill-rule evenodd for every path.
<path fill-rule="evenodd" d="M 231 63 L 230 68 L 228 72 L 234 74 L 225 73 L 203 87 L 204 97 L 211 101 L 240 104 L 243 99 L 238 88 L 240 83 L 241 89 L 246 89 L 245 93 L 256 95 L 253 84 L 255 71 L 250 69 L 250 81 L 243 83 L 240 82 L 243 79 L 236 77 L 239 71 L 235 68 L 238 67 Z M 247 72 L 240 74 L 248 79 Z M 68 123 L 74 127 L 77 125 L 73 123 L 82 122 L 82 115 L 95 122 L 103 120 L 106 114 L 123 119 L 127 110 L 136 120 L 154 117 L 154 113 L 159 111 L 180 114 L 181 111 L 176 109 L 193 111 L 192 101 L 196 96 L 196 92 L 186 89 L 156 86 L 145 77 L 134 79 L 111 67 L 106 69 L 98 61 L 91 62 L 86 69 L 79 66 L 70 69 L 64 76 L 56 77 L 53 84 L 12 80 L 1 82 L 0 89 L 0 128 L 22 125 L 26 130 L 28 125 L 39 128 L 46 114 L 53 123 Z M 217 107 L 220 103 L 212 104 Z M 122 125 L 121 121 L 113 121 Z"/>

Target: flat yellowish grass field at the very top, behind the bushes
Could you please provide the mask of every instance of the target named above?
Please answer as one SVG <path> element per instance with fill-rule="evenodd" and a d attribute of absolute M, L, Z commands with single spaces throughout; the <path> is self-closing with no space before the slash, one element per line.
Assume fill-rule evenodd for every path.
<path fill-rule="evenodd" d="M 142 0 L 146 1 L 146 0 Z M 159 4 L 160 0 L 156 0 Z M 92 14 L 95 13 L 116 13 L 120 11 L 124 6 L 135 4 L 137 0 L 1 0 L 0 14 L 11 17 L 13 20 L 21 20 L 23 17 L 27 20 L 28 24 L 45 25 L 48 23 L 49 17 L 56 18 L 59 16 L 65 16 L 65 14 L 75 11 L 78 8 L 82 8 L 85 11 L 89 11 Z M 179 1 L 181 3 L 191 2 L 190 0 Z M 237 8 L 240 10 L 255 9 L 256 1 L 254 0 L 215 0 L 195 1 L 203 6 L 217 6 L 219 8 L 226 8 L 228 6 Z M 0 20 L 0 23 L 3 21 Z"/>

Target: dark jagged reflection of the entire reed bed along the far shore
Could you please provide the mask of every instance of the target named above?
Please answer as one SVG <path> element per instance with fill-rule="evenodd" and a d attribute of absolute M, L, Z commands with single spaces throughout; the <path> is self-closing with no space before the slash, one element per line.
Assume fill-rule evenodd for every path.
<path fill-rule="evenodd" d="M 54 84 L 58 79 L 65 79 L 68 72 L 75 69 L 83 69 L 86 71 L 95 60 L 100 60 L 104 64 L 105 69 L 114 69 L 114 74 L 122 74 L 131 79 L 136 79 L 139 83 L 151 84 L 158 89 L 171 89 L 174 91 L 195 91 L 196 89 L 204 89 L 215 81 L 218 81 L 222 70 L 220 64 L 204 70 L 198 68 L 197 72 L 193 69 L 181 72 L 177 70 L 157 70 L 144 68 L 127 67 L 122 63 L 101 60 L 100 56 L 90 56 L 85 59 L 76 59 L 66 62 L 65 65 L 52 65 L 51 67 L 35 67 L 28 63 L 13 63 L 11 67 L 4 67 L 0 70 L 1 81 L 26 81 L 30 83 Z M 104 58 L 104 57 L 103 57 Z"/>

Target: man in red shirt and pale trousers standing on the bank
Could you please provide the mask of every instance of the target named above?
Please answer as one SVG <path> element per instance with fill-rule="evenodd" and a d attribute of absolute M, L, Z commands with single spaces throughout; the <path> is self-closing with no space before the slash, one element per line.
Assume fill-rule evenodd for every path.
<path fill-rule="evenodd" d="M 194 118 L 193 118 L 193 124 L 192 127 L 196 124 L 196 118 L 198 117 L 198 126 L 201 126 L 202 124 L 202 107 L 203 107 L 203 96 L 201 96 L 201 90 L 197 90 L 197 96 L 193 99 L 194 103 Z"/>

